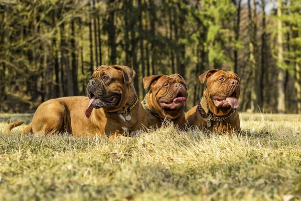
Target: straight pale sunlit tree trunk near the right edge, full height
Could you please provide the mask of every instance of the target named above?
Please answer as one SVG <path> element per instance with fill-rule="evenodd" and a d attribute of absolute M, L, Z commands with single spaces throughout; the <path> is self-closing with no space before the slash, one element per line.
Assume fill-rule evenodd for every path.
<path fill-rule="evenodd" d="M 278 113 L 285 113 L 285 89 L 284 89 L 284 69 L 283 69 L 283 47 L 282 47 L 282 1 L 278 0 L 277 8 L 277 44 L 278 44 Z"/>

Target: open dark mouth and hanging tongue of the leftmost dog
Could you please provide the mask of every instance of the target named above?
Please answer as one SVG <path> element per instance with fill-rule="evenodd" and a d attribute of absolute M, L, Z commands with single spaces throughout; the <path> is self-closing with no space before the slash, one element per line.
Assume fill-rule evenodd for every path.
<path fill-rule="evenodd" d="M 108 98 L 102 97 L 101 99 L 96 97 L 93 93 L 89 94 L 90 102 L 88 105 L 88 108 L 85 111 L 86 117 L 89 118 L 91 116 L 91 113 L 93 109 L 99 109 L 99 108 L 107 108 L 112 107 L 116 105 L 119 102 L 119 96 L 114 94 L 109 96 Z"/>

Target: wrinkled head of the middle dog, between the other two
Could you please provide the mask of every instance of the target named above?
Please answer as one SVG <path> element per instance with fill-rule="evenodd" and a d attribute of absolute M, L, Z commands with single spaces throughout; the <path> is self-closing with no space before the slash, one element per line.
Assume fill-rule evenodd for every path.
<path fill-rule="evenodd" d="M 152 87 L 152 107 L 173 119 L 184 110 L 187 100 L 185 79 L 179 74 L 152 75 L 143 78 L 144 88 Z"/>

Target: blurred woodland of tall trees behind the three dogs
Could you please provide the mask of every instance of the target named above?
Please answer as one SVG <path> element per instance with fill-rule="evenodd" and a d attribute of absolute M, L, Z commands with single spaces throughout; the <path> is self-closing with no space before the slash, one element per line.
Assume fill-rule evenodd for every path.
<path fill-rule="evenodd" d="M 266 5 L 277 8 L 266 13 Z M 180 73 L 187 109 L 208 69 L 241 78 L 240 111 L 301 113 L 298 0 L 0 0 L 0 111 L 85 95 L 96 66 Z"/>

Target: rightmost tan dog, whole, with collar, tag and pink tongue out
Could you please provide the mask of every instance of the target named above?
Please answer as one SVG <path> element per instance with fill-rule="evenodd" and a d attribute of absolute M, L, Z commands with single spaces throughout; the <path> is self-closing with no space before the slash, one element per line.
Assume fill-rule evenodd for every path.
<path fill-rule="evenodd" d="M 201 84 L 206 79 L 206 88 L 199 104 L 185 115 L 188 125 L 212 132 L 240 131 L 239 115 L 236 112 L 240 95 L 238 75 L 212 69 L 199 76 Z"/>

